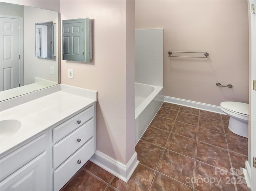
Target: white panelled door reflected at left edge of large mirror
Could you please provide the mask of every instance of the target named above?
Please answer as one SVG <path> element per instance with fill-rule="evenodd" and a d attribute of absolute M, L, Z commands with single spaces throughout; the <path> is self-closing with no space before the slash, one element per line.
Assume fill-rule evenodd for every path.
<path fill-rule="evenodd" d="M 19 87 L 19 20 L 0 18 L 0 91 Z"/>

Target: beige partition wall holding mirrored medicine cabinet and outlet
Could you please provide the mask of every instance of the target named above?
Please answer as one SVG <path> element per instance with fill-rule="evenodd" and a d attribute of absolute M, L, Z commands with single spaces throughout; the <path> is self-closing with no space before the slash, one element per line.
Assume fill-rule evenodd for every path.
<path fill-rule="evenodd" d="M 134 2 L 60 1 L 61 20 L 92 19 L 93 39 L 91 63 L 61 60 L 61 83 L 98 91 L 96 150 L 124 164 L 135 152 L 134 43 L 126 45 L 126 38 L 134 42 L 134 35 L 127 35 L 134 33 L 134 21 L 126 20 L 132 12 Z"/>

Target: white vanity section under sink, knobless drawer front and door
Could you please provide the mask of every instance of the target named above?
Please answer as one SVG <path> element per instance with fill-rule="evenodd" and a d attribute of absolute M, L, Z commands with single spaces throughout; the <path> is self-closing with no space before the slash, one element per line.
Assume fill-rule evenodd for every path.
<path fill-rule="evenodd" d="M 26 141 L 0 158 L 1 191 L 48 191 L 48 132 Z"/>

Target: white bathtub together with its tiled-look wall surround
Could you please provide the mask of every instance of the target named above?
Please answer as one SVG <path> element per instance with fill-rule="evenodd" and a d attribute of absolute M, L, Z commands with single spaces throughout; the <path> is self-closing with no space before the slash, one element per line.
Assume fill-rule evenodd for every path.
<path fill-rule="evenodd" d="M 164 102 L 164 29 L 135 30 L 135 143 Z"/>

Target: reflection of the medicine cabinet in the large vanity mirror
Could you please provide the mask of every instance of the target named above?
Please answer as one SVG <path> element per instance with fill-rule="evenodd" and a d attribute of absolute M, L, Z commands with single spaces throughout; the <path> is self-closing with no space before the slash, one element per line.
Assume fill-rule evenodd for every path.
<path fill-rule="evenodd" d="M 36 23 L 36 57 L 53 59 L 53 22 Z"/>

